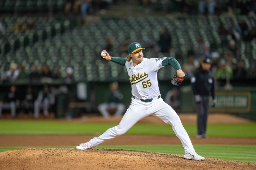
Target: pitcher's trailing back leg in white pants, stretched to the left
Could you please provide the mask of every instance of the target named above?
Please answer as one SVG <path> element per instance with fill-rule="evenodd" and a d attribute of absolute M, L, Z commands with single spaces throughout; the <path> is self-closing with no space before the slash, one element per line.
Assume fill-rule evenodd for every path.
<path fill-rule="evenodd" d="M 99 137 L 94 137 L 88 142 L 89 148 L 93 148 L 97 146 L 98 144 L 101 144 L 102 142 L 105 142 L 109 139 L 118 137 L 120 135 L 123 135 L 127 130 L 129 130 L 136 122 L 138 122 L 140 119 L 147 116 L 143 113 L 135 113 L 130 108 L 126 111 L 124 114 L 124 117 L 122 118 L 121 122 L 113 127 L 108 129 L 106 132 L 104 132 Z"/>

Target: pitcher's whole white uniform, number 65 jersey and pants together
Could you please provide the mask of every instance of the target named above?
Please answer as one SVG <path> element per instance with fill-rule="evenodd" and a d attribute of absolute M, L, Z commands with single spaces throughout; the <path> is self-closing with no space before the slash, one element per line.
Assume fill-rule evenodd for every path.
<path fill-rule="evenodd" d="M 179 116 L 172 107 L 166 104 L 160 97 L 157 71 L 164 67 L 162 65 L 164 59 L 165 58 L 143 58 L 142 62 L 135 67 L 133 66 L 132 60 L 125 62 L 125 67 L 132 85 L 131 105 L 117 126 L 108 129 L 99 137 L 94 137 L 88 142 L 90 148 L 124 134 L 139 120 L 153 115 L 159 117 L 165 123 L 172 125 L 173 131 L 184 147 L 185 154 L 195 152 Z"/>

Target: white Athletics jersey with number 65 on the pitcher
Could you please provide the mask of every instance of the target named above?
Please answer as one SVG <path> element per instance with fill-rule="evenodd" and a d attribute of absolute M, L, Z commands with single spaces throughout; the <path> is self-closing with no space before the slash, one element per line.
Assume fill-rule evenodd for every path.
<path fill-rule="evenodd" d="M 143 58 L 135 67 L 132 60 L 125 63 L 132 85 L 132 95 L 135 98 L 146 100 L 160 95 L 157 71 L 164 67 L 162 62 L 165 58 Z"/>

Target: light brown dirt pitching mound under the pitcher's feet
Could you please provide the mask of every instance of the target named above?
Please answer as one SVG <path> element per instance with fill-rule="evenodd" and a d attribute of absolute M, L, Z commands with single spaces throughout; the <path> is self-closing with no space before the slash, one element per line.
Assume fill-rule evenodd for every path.
<path fill-rule="evenodd" d="M 1 152 L 0 169 L 256 169 L 256 164 L 220 159 L 194 161 L 155 152 L 32 148 Z"/>

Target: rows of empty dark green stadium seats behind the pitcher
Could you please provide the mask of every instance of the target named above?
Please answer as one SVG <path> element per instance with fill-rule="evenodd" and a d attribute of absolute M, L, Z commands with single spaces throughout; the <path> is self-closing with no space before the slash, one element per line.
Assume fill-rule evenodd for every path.
<path fill-rule="evenodd" d="M 255 26 L 255 17 L 243 17 L 250 28 Z M 221 38 L 218 34 L 220 23 L 230 27 L 232 22 L 238 22 L 237 17 L 227 16 L 181 16 L 181 17 L 129 17 L 124 19 L 103 18 L 97 23 L 76 26 L 72 30 L 67 29 L 69 20 L 57 21 L 53 18 L 37 18 L 35 32 L 31 33 L 6 33 L 0 40 L 1 60 L 0 70 L 6 70 L 12 61 L 25 63 L 29 70 L 31 63 L 39 65 L 46 63 L 52 70 L 60 70 L 63 74 L 67 65 L 74 67 L 77 80 L 105 81 L 127 80 L 125 67 L 112 62 L 102 60 L 101 50 L 105 47 L 105 40 L 114 37 L 113 51 L 119 54 L 119 47 L 125 37 L 131 41 L 157 44 L 162 26 L 166 26 L 172 36 L 172 47 L 169 56 L 176 57 L 181 63 L 187 57 L 189 50 L 198 48 L 198 40 L 201 38 L 207 45 L 215 45 L 215 48 L 223 57 L 230 37 Z M 12 18 L 4 18 L 4 25 L 13 26 Z M 225 43 L 223 43 L 225 42 Z M 244 59 L 246 67 L 249 61 L 256 61 L 256 45 L 251 42 L 238 43 L 241 49 L 241 59 Z M 10 51 L 10 52 L 6 52 Z M 153 49 L 146 49 L 146 57 L 163 57 L 162 53 L 154 54 Z M 155 56 L 156 55 L 156 56 Z M 1 57 L 2 58 L 2 57 Z M 239 58 L 238 58 L 239 59 Z M 159 70 L 160 80 L 170 79 L 170 67 Z"/>

